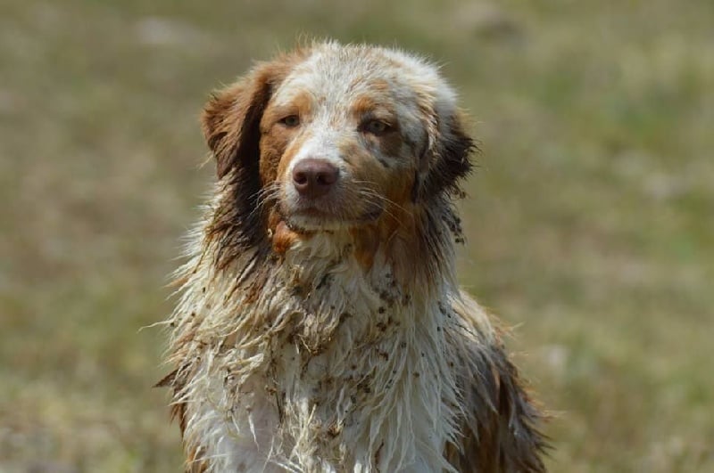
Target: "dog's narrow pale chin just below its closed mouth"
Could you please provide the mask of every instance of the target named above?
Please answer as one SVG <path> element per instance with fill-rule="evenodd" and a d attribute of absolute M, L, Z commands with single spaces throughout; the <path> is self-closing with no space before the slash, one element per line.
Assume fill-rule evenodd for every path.
<path fill-rule="evenodd" d="M 369 208 L 360 213 L 303 208 L 284 212 L 283 221 L 297 233 L 338 232 L 374 224 L 382 212 L 383 208 Z"/>

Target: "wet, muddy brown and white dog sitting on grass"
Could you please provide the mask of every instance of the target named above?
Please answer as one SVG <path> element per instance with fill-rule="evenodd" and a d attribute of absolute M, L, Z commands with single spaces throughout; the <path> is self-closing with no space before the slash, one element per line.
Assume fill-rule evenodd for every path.
<path fill-rule="evenodd" d="M 160 385 L 188 471 L 544 471 L 544 414 L 462 292 L 475 142 L 415 55 L 258 63 L 202 116 L 217 166 Z"/>

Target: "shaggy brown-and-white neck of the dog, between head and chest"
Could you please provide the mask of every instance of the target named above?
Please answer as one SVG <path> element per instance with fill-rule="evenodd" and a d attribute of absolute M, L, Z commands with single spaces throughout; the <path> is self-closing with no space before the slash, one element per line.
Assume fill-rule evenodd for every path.
<path fill-rule="evenodd" d="M 182 270 L 177 331 L 186 330 L 190 339 L 230 342 L 272 336 L 275 330 L 295 332 L 297 325 L 307 347 L 320 351 L 319 339 L 331 339 L 355 312 L 361 322 L 351 330 L 360 338 L 384 331 L 387 322 L 432 314 L 436 303 L 445 304 L 444 297 L 458 291 L 453 243 L 461 239 L 460 222 L 445 198 L 405 210 L 390 209 L 376 224 L 329 232 L 299 233 L 278 221 L 270 225 L 265 244 L 240 252 L 236 241 L 245 233 L 240 227 L 229 238 L 203 232 Z M 209 216 L 206 228 L 217 218 Z M 235 256 L 221 265 L 230 253 Z"/>

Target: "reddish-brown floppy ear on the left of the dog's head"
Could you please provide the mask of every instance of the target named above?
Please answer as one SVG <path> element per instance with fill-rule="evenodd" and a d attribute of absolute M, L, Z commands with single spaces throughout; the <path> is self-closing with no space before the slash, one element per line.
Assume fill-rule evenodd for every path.
<path fill-rule="evenodd" d="M 212 94 L 201 116 L 203 136 L 216 159 L 219 179 L 240 167 L 258 178 L 259 124 L 270 95 L 292 69 L 295 57 L 258 64 L 236 84 Z M 244 179 L 246 177 L 244 175 Z"/>

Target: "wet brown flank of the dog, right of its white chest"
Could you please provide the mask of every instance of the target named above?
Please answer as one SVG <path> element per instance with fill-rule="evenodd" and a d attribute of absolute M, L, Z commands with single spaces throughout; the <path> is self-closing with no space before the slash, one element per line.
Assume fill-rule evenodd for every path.
<path fill-rule="evenodd" d="M 538 430 L 544 414 L 507 355 L 503 330 L 463 292 L 449 309 L 458 322 L 445 335 L 463 412 L 460 445 L 447 444 L 444 456 L 459 471 L 545 471 L 548 443 Z"/>

